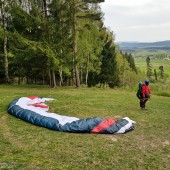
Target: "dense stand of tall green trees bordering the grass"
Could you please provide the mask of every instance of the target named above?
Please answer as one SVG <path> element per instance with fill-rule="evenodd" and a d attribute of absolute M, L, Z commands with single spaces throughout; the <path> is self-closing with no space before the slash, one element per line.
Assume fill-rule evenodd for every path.
<path fill-rule="evenodd" d="M 129 85 L 137 70 L 104 26 L 104 0 L 0 0 L 0 83 Z"/>

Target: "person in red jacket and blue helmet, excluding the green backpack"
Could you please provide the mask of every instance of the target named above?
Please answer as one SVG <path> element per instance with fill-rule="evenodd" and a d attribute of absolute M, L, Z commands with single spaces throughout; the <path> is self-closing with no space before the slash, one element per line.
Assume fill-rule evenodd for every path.
<path fill-rule="evenodd" d="M 145 83 L 142 84 L 142 92 L 141 92 L 141 98 L 140 98 L 140 108 L 145 109 L 145 104 L 147 100 L 151 96 L 151 90 L 149 88 L 149 80 L 145 80 Z"/>

